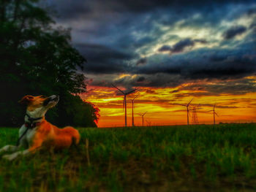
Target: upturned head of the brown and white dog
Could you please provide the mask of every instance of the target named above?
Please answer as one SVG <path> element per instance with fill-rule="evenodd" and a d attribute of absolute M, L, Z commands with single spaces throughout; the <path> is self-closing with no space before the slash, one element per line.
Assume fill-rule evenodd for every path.
<path fill-rule="evenodd" d="M 59 96 L 23 96 L 20 104 L 26 105 L 27 112 L 35 115 L 45 115 L 45 112 L 54 107 L 59 101 Z"/>

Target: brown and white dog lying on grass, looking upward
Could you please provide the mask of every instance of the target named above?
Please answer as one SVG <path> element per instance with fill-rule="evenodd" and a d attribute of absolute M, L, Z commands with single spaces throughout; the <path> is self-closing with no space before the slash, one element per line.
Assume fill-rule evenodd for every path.
<path fill-rule="evenodd" d="M 3 158 L 13 160 L 19 155 L 34 153 L 42 147 L 68 148 L 72 144 L 78 145 L 80 134 L 70 126 L 57 128 L 45 120 L 45 113 L 59 101 L 59 96 L 24 96 L 19 102 L 26 104 L 25 123 L 19 130 L 18 145 L 7 145 L 1 152 L 15 152 L 4 155 Z M 27 147 L 26 150 L 20 150 Z M 18 151 L 20 150 L 20 151 Z"/>

